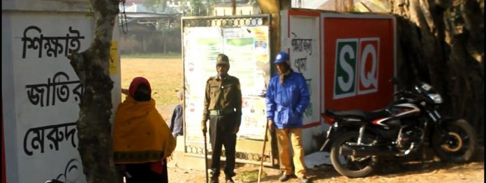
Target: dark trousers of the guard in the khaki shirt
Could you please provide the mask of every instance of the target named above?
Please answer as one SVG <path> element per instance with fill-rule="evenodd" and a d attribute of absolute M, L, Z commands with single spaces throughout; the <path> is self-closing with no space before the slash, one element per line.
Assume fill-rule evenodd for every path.
<path fill-rule="evenodd" d="M 235 129 L 236 113 L 231 113 L 223 116 L 211 115 L 209 116 L 209 140 L 211 141 L 212 156 L 211 169 L 213 176 L 219 176 L 221 149 L 224 145 L 226 164 L 224 166 L 224 173 L 226 177 L 235 176 L 235 146 L 236 134 L 233 133 Z"/>

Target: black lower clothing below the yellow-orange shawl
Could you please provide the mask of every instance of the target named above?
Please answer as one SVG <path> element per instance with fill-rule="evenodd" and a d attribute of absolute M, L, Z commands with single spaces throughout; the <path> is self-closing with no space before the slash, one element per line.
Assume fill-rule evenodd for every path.
<path fill-rule="evenodd" d="M 130 173 L 131 178 L 126 178 L 126 183 L 138 183 L 138 182 L 157 182 L 157 183 L 167 183 L 167 163 L 164 160 L 164 165 L 162 166 L 162 174 L 154 173 L 150 168 L 151 163 L 136 163 L 136 164 L 126 164 L 126 172 Z"/>

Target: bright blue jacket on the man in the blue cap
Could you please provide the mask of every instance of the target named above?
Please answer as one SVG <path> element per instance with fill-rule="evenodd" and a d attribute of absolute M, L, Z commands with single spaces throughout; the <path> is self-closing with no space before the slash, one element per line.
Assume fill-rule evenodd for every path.
<path fill-rule="evenodd" d="M 290 71 L 280 85 L 279 74 L 270 78 L 267 95 L 267 119 L 273 119 L 277 129 L 302 127 L 302 113 L 309 105 L 307 82 L 301 73 Z"/>

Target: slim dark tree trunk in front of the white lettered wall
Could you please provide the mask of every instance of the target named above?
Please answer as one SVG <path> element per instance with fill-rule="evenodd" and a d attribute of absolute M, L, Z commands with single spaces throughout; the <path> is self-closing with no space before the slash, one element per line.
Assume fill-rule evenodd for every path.
<path fill-rule="evenodd" d="M 84 88 L 78 119 L 78 151 L 87 182 L 115 182 L 110 116 L 113 82 L 108 73 L 110 45 L 118 0 L 91 0 L 94 40 L 87 50 L 73 52 L 71 60 Z"/>

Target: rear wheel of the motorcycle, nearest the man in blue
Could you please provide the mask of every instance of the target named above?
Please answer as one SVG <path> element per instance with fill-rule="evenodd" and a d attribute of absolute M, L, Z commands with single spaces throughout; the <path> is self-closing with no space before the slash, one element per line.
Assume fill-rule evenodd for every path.
<path fill-rule="evenodd" d="M 336 171 L 346 177 L 364 177 L 373 172 L 376 165 L 374 156 L 344 156 L 339 149 L 346 142 L 358 142 L 359 133 L 349 131 L 338 136 L 332 143 L 330 159 Z M 364 141 L 366 142 L 366 141 Z"/>

